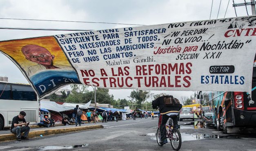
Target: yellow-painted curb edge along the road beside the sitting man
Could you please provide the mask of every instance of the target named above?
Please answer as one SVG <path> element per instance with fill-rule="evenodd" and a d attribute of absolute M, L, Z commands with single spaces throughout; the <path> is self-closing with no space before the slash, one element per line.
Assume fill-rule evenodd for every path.
<path fill-rule="evenodd" d="M 103 128 L 102 125 L 91 125 L 91 126 L 84 126 L 84 127 L 72 127 L 72 128 L 64 128 L 64 129 L 46 129 L 46 130 L 39 130 L 39 131 L 30 131 L 28 138 L 38 137 L 40 135 L 51 135 L 51 134 L 59 134 L 59 133 L 68 133 L 72 131 L 82 131 L 82 130 L 89 130 L 89 129 L 100 129 Z M 0 142 L 7 141 L 7 140 L 16 140 L 15 134 L 2 134 L 0 135 Z"/>

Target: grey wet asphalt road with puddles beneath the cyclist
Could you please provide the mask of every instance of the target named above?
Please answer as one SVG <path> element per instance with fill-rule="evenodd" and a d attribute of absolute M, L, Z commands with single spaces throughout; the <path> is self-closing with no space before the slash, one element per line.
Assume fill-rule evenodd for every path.
<path fill-rule="evenodd" d="M 104 129 L 36 137 L 20 142 L 1 142 L 0 150 L 172 150 L 170 143 L 158 146 L 155 136 L 157 124 L 158 118 L 107 122 L 103 123 Z M 183 140 L 180 151 L 256 151 L 256 135 L 223 134 L 215 129 L 197 128 L 197 123 L 193 121 L 182 121 L 179 124 Z M 73 148 L 74 145 L 78 145 L 77 148 Z"/>

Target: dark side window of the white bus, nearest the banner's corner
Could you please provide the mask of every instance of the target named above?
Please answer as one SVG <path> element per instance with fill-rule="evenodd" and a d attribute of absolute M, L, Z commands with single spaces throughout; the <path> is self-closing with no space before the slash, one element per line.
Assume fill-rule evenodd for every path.
<path fill-rule="evenodd" d="M 36 101 L 36 93 L 31 87 L 12 85 L 13 100 Z"/>

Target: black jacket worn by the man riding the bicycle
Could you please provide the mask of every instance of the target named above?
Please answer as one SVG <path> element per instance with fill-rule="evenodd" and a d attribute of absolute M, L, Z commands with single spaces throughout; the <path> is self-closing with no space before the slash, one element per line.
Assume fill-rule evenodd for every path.
<path fill-rule="evenodd" d="M 182 105 L 179 104 L 179 105 L 173 105 L 171 107 L 167 107 L 164 104 L 164 96 L 161 96 L 152 102 L 152 107 L 153 109 L 157 109 L 157 107 L 159 107 L 160 114 L 163 115 L 167 113 L 178 113 L 182 108 Z"/>

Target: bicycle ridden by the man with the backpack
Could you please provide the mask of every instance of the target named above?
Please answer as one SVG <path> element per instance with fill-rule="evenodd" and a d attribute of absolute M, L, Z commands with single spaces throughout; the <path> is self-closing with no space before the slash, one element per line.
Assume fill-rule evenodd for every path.
<path fill-rule="evenodd" d="M 173 128 L 172 125 L 172 119 L 169 120 L 169 125 L 165 124 L 165 127 L 169 129 L 169 131 L 166 130 L 166 138 L 169 138 L 171 141 L 171 147 L 175 150 L 178 151 L 181 147 L 181 135 L 180 131 L 176 128 Z M 158 127 L 157 132 L 156 132 L 156 140 L 159 146 L 163 146 L 163 144 L 160 143 L 160 129 Z"/>

